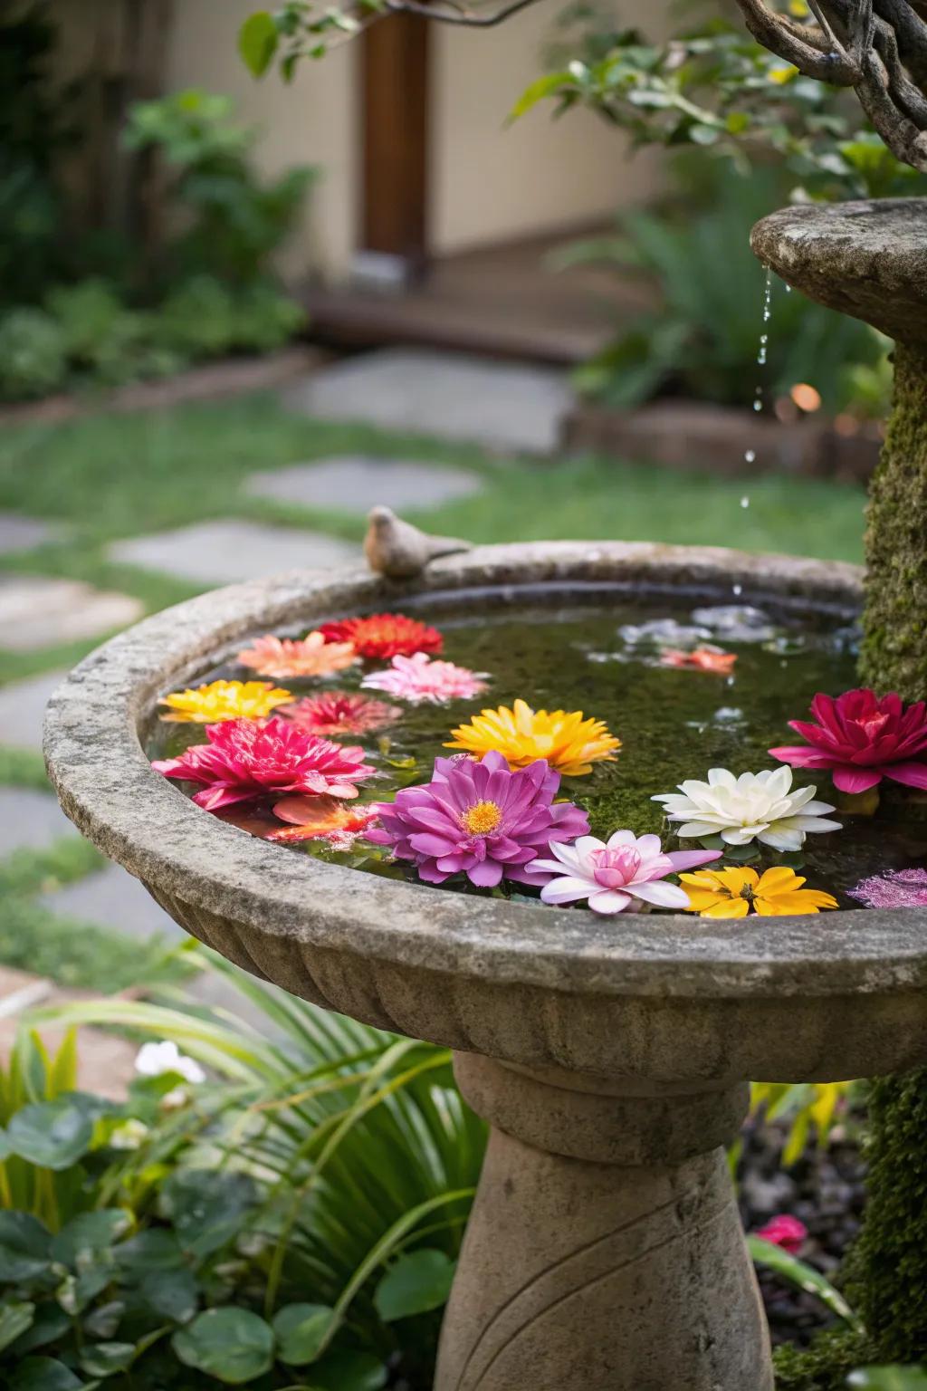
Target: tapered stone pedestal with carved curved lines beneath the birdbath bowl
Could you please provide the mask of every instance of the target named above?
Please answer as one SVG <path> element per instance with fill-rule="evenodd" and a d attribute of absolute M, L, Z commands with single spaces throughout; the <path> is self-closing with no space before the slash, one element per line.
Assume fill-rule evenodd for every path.
<path fill-rule="evenodd" d="M 773 1391 L 723 1148 L 746 1086 L 454 1071 L 492 1134 L 435 1391 Z"/>

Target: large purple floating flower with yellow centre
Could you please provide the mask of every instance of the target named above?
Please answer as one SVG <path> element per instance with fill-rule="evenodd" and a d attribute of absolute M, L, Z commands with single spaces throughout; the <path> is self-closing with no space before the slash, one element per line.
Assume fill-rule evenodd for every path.
<path fill-rule="evenodd" d="M 589 829 L 580 807 L 555 803 L 559 787 L 560 775 L 542 758 L 517 772 L 498 753 L 479 762 L 436 758 L 432 782 L 403 787 L 378 807 L 382 830 L 370 830 L 367 840 L 411 860 L 428 883 L 463 871 L 485 889 L 503 878 L 539 885 L 548 876 L 528 864 Z"/>

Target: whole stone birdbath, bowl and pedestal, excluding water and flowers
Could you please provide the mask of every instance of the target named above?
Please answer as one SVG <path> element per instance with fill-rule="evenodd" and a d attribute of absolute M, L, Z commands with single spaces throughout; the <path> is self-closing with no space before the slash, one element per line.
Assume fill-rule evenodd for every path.
<path fill-rule="evenodd" d="M 491 547 L 388 581 L 290 573 L 147 619 L 49 708 L 61 805 L 188 932 L 324 1008 L 454 1050 L 492 1135 L 436 1391 L 771 1391 L 724 1146 L 748 1079 L 927 1060 L 927 911 L 599 918 L 292 854 L 200 811 L 140 730 L 263 632 L 438 598 L 595 590 L 842 615 L 852 566 L 630 544 Z M 555 602 L 552 601 L 552 602 Z M 656 789 L 659 790 L 659 789 Z"/>

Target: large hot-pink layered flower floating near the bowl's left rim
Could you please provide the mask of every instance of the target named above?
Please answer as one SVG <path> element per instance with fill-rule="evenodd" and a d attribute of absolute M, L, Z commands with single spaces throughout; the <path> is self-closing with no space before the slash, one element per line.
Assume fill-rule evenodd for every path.
<path fill-rule="evenodd" d="M 165 778 L 203 783 L 193 801 L 206 811 L 288 791 L 352 798 L 357 783 L 375 772 L 360 746 L 306 734 L 284 719 L 207 725 L 206 737 L 208 744 L 151 764 Z"/>

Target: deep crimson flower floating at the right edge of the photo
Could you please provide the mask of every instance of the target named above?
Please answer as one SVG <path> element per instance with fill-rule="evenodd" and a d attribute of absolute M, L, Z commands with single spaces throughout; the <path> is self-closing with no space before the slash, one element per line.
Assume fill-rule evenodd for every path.
<path fill-rule="evenodd" d="M 881 700 L 869 689 L 812 701 L 817 723 L 789 721 L 807 744 L 770 748 L 794 768 L 828 768 L 841 791 L 866 791 L 883 780 L 927 789 L 927 704 L 905 708 L 891 691 Z"/>

